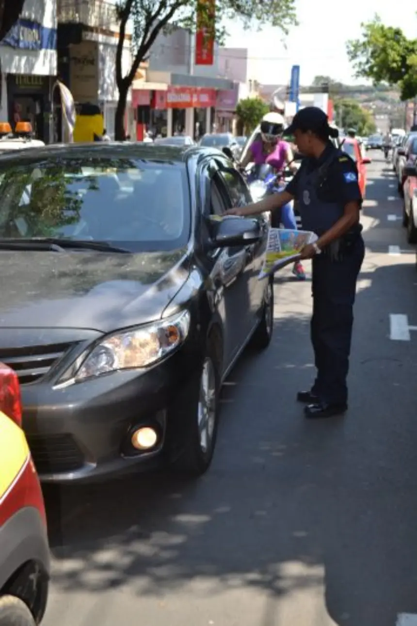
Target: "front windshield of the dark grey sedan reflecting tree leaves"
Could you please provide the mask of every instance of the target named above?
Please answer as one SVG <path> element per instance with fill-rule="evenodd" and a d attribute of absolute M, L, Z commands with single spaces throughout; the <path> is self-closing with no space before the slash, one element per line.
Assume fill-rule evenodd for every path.
<path fill-rule="evenodd" d="M 142 252 L 178 249 L 189 235 L 184 163 L 86 155 L 0 164 L 0 240 L 53 237 Z"/>

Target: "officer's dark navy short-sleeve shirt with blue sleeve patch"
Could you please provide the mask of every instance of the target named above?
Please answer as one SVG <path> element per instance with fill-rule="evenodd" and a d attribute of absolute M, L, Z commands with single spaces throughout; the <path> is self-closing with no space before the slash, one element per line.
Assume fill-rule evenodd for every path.
<path fill-rule="evenodd" d="M 302 191 L 299 189 L 302 169 L 307 168 L 309 172 L 312 172 L 326 162 L 331 157 L 332 152 L 334 152 L 334 159 L 329 165 L 321 187 L 316 190 L 317 198 L 322 202 L 340 202 L 343 206 L 356 201 L 361 207 L 362 194 L 359 188 L 356 163 L 350 156 L 332 144 L 326 147 L 320 158 L 306 157 L 302 160 L 298 172 L 286 186 L 286 191 L 297 200 Z"/>

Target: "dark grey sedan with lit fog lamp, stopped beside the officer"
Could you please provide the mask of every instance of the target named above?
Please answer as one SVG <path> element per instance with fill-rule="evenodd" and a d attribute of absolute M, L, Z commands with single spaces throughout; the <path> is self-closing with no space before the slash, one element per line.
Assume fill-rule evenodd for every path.
<path fill-rule="evenodd" d="M 220 386 L 272 335 L 267 220 L 216 219 L 251 202 L 234 164 L 95 143 L 3 155 L 0 170 L 0 356 L 41 480 L 203 473 Z"/>

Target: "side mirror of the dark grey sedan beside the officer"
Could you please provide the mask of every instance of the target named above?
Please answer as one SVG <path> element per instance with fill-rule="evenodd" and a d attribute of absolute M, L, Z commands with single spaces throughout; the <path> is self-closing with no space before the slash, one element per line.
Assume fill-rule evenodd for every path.
<path fill-rule="evenodd" d="M 248 217 L 225 217 L 214 222 L 212 247 L 255 244 L 262 237 L 259 222 Z"/>

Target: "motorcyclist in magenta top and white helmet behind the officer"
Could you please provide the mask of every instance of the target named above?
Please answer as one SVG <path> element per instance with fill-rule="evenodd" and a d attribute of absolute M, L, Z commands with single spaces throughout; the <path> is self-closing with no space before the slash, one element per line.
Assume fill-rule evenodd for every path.
<path fill-rule="evenodd" d="M 242 168 L 247 167 L 249 163 L 255 165 L 263 165 L 266 163 L 274 168 L 275 172 L 281 173 L 286 166 L 291 172 L 297 172 L 297 165 L 293 162 L 291 146 L 287 141 L 283 141 L 282 131 L 286 123 L 280 113 L 271 111 L 262 118 L 260 122 L 260 135 L 255 139 L 247 150 L 244 158 L 240 162 Z M 297 230 L 296 216 L 294 215 L 294 207 L 292 203 L 282 207 L 281 222 L 284 228 L 292 228 Z M 294 264 L 292 273 L 299 280 L 305 280 L 306 274 L 304 267 L 300 262 Z"/>

